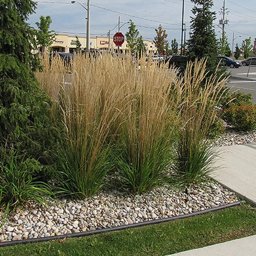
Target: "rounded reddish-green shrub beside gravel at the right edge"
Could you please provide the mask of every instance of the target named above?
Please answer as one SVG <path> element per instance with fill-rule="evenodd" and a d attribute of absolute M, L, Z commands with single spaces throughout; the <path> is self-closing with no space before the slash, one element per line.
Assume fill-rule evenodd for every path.
<path fill-rule="evenodd" d="M 256 106 L 244 103 L 232 105 L 224 110 L 223 119 L 237 131 L 252 131 L 256 128 Z"/>

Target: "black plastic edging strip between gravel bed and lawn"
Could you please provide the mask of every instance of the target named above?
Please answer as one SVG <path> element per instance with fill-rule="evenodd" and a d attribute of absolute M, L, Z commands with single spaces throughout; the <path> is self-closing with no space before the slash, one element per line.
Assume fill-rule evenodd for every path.
<path fill-rule="evenodd" d="M 245 201 L 241 201 L 241 202 L 245 202 Z M 183 215 L 179 215 L 179 216 L 174 216 L 174 217 L 169 217 L 169 218 L 164 218 L 164 219 L 159 219 L 159 220 L 149 220 L 149 221 L 145 221 L 145 222 L 133 223 L 133 224 L 112 227 L 112 228 L 101 228 L 101 229 L 95 229 L 95 230 L 86 231 L 86 232 L 65 234 L 65 235 L 60 235 L 60 236 L 49 236 L 49 237 L 41 237 L 41 238 L 30 238 L 30 239 L 21 239 L 21 240 L 16 240 L 16 241 L 0 242 L 0 247 L 7 246 L 7 245 L 14 245 L 14 244 L 26 244 L 26 243 L 31 243 L 31 242 L 43 242 L 43 241 L 49 241 L 49 240 L 53 240 L 53 239 L 62 239 L 65 237 L 89 236 L 89 235 L 95 235 L 95 234 L 108 232 L 108 231 L 117 231 L 117 230 L 123 230 L 126 228 L 136 228 L 136 227 L 146 226 L 146 225 L 150 225 L 150 224 L 162 223 L 162 222 L 166 222 L 166 221 L 170 221 L 170 220 L 179 220 L 179 219 L 184 219 L 187 217 L 192 217 L 192 216 L 196 216 L 196 215 L 207 213 L 207 212 L 214 212 L 217 210 L 236 206 L 236 205 L 241 204 L 241 202 L 225 204 L 225 205 L 213 207 L 213 208 L 206 209 L 206 210 L 199 211 L 199 212 L 192 212 L 192 213 L 183 214 Z"/>

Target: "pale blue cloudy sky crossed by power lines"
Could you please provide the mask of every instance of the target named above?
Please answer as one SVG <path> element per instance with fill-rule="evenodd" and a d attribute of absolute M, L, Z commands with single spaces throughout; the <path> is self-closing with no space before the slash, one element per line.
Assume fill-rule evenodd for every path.
<path fill-rule="evenodd" d="M 213 0 L 212 11 L 216 12 L 214 21 L 216 37 L 220 37 L 222 29 L 218 27 L 224 0 Z M 85 0 L 80 3 L 87 7 Z M 108 30 L 113 36 L 118 31 L 118 16 L 120 16 L 120 32 L 125 34 L 130 19 L 140 31 L 143 39 L 153 40 L 155 28 L 161 24 L 168 34 L 167 40 L 171 45 L 172 39 L 181 41 L 182 0 L 90 0 L 90 29 L 91 37 L 107 36 Z M 186 24 L 186 39 L 189 38 L 191 9 L 194 4 L 184 1 L 184 23 Z M 241 47 L 242 41 L 251 36 L 252 43 L 256 37 L 256 1 L 255 0 L 225 0 L 225 32 L 232 49 L 234 32 L 234 49 L 236 43 Z M 77 2 L 72 4 L 67 0 L 39 0 L 36 13 L 29 17 L 28 23 L 35 27 L 40 16 L 49 15 L 52 19 L 50 29 L 58 34 L 85 36 L 87 11 Z M 219 25 L 220 26 L 220 25 Z M 115 28 L 116 27 L 116 28 Z M 114 28 L 114 29 L 113 29 Z M 113 29 L 113 30 L 112 30 Z M 241 37 L 240 37 L 241 36 Z M 183 34 L 184 40 L 184 34 Z"/>

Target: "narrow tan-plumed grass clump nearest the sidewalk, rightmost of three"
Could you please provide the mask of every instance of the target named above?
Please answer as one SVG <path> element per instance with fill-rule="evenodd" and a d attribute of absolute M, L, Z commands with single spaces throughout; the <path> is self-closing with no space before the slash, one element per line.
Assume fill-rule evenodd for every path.
<path fill-rule="evenodd" d="M 188 186 L 200 182 L 214 170 L 213 163 L 218 151 L 207 140 L 207 134 L 217 115 L 215 105 L 225 93 L 227 79 L 216 72 L 206 78 L 206 60 L 190 62 L 185 70 L 182 86 L 180 132 L 175 153 L 176 182 Z M 205 82 L 204 82 L 205 81 Z"/>

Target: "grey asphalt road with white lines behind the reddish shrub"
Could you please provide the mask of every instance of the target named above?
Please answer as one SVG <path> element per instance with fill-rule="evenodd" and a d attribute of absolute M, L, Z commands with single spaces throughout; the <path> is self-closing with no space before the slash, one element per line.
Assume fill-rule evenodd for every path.
<path fill-rule="evenodd" d="M 244 93 L 252 93 L 252 101 L 256 103 L 256 66 L 250 67 L 250 72 L 247 76 L 248 69 L 248 66 L 228 68 L 228 72 L 231 72 L 231 77 L 227 87 L 231 87 L 231 91 L 239 90 Z"/>

